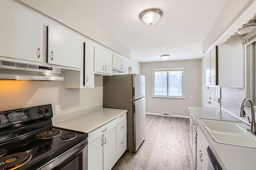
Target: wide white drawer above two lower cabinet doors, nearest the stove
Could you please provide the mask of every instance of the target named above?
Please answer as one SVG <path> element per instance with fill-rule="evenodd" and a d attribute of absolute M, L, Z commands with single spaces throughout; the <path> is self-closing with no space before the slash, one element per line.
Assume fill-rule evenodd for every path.
<path fill-rule="evenodd" d="M 98 137 L 104 135 L 105 133 L 107 133 L 108 131 L 113 129 L 114 127 L 116 127 L 116 119 L 106 123 L 102 127 L 99 127 L 98 129 L 92 131 L 91 133 L 88 133 L 88 143 L 90 143 L 90 142 L 94 141 L 95 139 L 97 139 Z"/>

